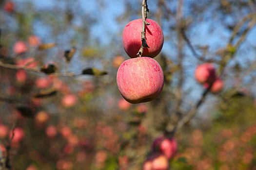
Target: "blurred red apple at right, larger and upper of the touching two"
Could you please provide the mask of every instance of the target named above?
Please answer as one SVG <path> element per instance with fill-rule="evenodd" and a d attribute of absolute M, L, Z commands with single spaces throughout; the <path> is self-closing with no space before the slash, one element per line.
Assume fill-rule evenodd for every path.
<path fill-rule="evenodd" d="M 195 71 L 195 78 L 199 83 L 212 83 L 216 77 L 216 71 L 211 63 L 199 65 Z"/>

